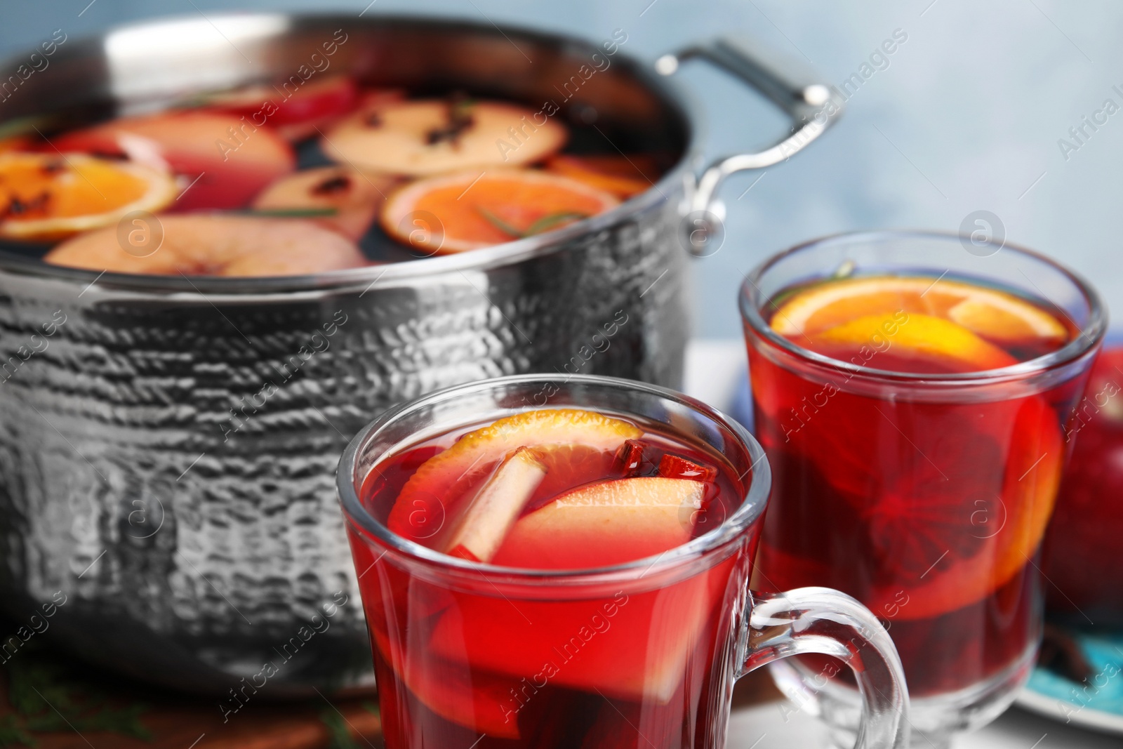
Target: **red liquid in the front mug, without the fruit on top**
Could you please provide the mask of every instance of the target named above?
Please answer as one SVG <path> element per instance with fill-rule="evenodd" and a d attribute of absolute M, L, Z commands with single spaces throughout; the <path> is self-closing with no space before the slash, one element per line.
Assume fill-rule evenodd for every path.
<path fill-rule="evenodd" d="M 419 466 L 465 431 L 376 466 L 362 492 L 374 517 L 386 522 Z M 692 536 L 739 506 L 749 476 L 738 478 L 720 455 L 652 430 L 637 441 L 642 460 L 630 469 L 614 455 L 585 453 L 570 469 L 554 465 L 550 483 L 539 487 L 523 515 L 576 486 L 657 475 L 668 453 L 718 468 L 702 482 L 706 503 Z M 411 519 L 416 540 L 440 548 L 446 524 L 455 523 L 480 481 L 460 485 L 462 496 L 435 496 L 418 506 Z M 386 746 L 720 746 L 732 684 L 733 604 L 747 585 L 756 538 L 754 530 L 728 551 L 669 570 L 656 558 L 639 584 L 528 587 L 509 585 L 497 568 L 433 572 L 351 529 Z M 577 554 L 593 567 L 610 551 L 591 545 Z M 530 556 L 504 560 L 539 566 Z"/>

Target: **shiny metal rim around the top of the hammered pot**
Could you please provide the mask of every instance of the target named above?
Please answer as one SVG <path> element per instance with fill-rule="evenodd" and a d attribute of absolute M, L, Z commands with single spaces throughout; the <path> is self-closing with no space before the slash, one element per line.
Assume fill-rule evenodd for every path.
<path fill-rule="evenodd" d="M 211 20 L 231 18 L 283 18 L 289 21 L 289 30 L 281 34 L 291 33 L 293 28 L 299 28 L 302 24 L 323 22 L 338 19 L 340 22 L 355 25 L 356 19 L 339 13 L 318 12 L 223 12 L 211 16 Z M 154 18 L 130 24 L 112 26 L 100 34 L 82 37 L 80 43 L 103 42 L 110 34 L 122 29 L 143 29 L 145 27 L 158 25 L 172 25 L 176 22 L 197 22 L 192 16 L 180 15 L 166 18 Z M 444 27 L 451 29 L 464 29 L 482 31 L 494 35 L 496 31 L 503 36 L 514 34 L 521 38 L 545 44 L 562 44 L 576 47 L 595 48 L 593 43 L 586 38 L 569 36 L 567 34 L 555 34 L 532 29 L 522 26 L 494 24 L 481 24 L 457 17 L 426 17 L 409 13 L 387 13 L 385 16 L 371 16 L 358 20 L 359 25 L 424 25 L 430 27 Z M 79 46 L 79 45 L 75 45 Z M 431 257 L 417 258 L 386 263 L 383 265 L 364 266 L 359 268 L 347 268 L 343 271 L 328 271 L 323 273 L 293 275 L 293 276 L 252 276 L 252 277 L 222 277 L 222 276 L 166 276 L 145 275 L 134 273 L 101 273 L 83 268 L 66 267 L 61 265 L 49 265 L 39 258 L 22 255 L 9 254 L 0 250 L 0 278 L 6 276 L 35 276 L 43 280 L 71 282 L 74 285 L 83 285 L 86 290 L 98 284 L 101 290 L 148 292 L 155 295 L 174 293 L 181 295 L 229 295 L 249 296 L 271 293 L 289 292 L 320 292 L 320 291 L 346 291 L 364 289 L 369 290 L 376 283 L 385 281 L 411 282 L 421 281 L 442 274 L 464 273 L 465 271 L 489 271 L 505 265 L 513 265 L 522 261 L 545 257 L 555 252 L 568 249 L 569 243 L 583 236 L 591 236 L 604 231 L 612 226 L 619 225 L 629 217 L 647 211 L 660 202 L 667 202 L 683 197 L 687 185 L 694 181 L 692 162 L 695 159 L 700 148 L 701 119 L 693 113 L 694 108 L 687 107 L 688 97 L 684 90 L 675 85 L 664 76 L 659 76 L 654 70 L 648 70 L 650 65 L 645 64 L 640 58 L 628 52 L 619 51 L 618 61 L 622 62 L 628 72 L 642 83 L 649 91 L 658 97 L 663 103 L 675 111 L 686 130 L 686 145 L 678 158 L 678 162 L 654 182 L 650 188 L 621 202 L 619 205 L 594 217 L 570 223 L 562 229 L 550 231 L 545 235 L 515 239 L 514 241 L 495 245 L 481 249 L 473 249 L 450 255 L 435 255 Z M 19 57 L 18 53 L 11 58 Z M 685 250 L 684 250 L 685 252 Z M 82 293 L 85 293 L 84 291 Z"/>

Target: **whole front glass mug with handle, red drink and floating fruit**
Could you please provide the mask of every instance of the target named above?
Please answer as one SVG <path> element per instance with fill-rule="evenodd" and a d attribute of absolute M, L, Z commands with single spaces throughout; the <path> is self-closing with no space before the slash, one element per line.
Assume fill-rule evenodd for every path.
<path fill-rule="evenodd" d="M 557 408 L 512 408 L 544 386 Z M 669 391 L 549 376 L 442 391 L 359 435 L 339 488 L 387 747 L 716 749 L 737 676 L 828 640 L 869 685 L 865 746 L 904 747 L 871 614 L 749 596 L 768 491 L 749 440 Z M 776 630 L 746 651 L 752 616 Z"/>

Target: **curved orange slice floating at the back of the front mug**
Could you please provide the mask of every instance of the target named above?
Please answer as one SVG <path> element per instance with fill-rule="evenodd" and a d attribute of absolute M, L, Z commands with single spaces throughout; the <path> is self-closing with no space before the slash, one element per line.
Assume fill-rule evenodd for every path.
<path fill-rule="evenodd" d="M 579 409 L 523 411 L 460 437 L 421 464 L 402 487 L 386 527 L 426 546 L 444 548 L 459 503 L 508 454 L 531 447 L 546 468 L 538 495 L 568 488 L 575 476 L 606 475 L 617 449 L 642 431 L 634 424 Z"/>

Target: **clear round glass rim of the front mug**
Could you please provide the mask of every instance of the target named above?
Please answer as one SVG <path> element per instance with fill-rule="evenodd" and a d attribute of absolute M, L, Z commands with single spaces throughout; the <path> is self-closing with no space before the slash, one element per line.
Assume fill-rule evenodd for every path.
<path fill-rule="evenodd" d="M 431 405 L 432 403 L 453 400 L 466 393 L 491 390 L 496 385 L 548 383 L 577 383 L 601 387 L 618 387 L 639 391 L 649 395 L 674 401 L 675 403 L 701 413 L 702 415 L 729 429 L 743 445 L 750 460 L 749 485 L 743 492 L 740 505 L 731 512 L 720 526 L 703 533 L 702 536 L 699 536 L 697 538 L 691 539 L 686 544 L 676 546 L 673 549 L 663 551 L 658 555 L 633 559 L 623 564 L 592 567 L 588 569 L 535 569 L 524 567 L 503 567 L 482 561 L 472 561 L 468 559 L 460 559 L 458 557 L 450 557 L 435 549 L 430 549 L 427 546 L 422 546 L 417 541 L 411 541 L 394 533 L 386 528 L 386 526 L 375 520 L 375 518 L 363 505 L 358 495 L 358 486 L 362 486 L 362 483 L 366 481 L 366 476 L 363 476 L 360 482 L 356 482 L 355 471 L 357 468 L 358 458 L 367 442 L 380 431 L 391 427 L 401 419 L 411 415 L 418 410 Z M 548 409 L 550 407 L 547 405 L 545 408 Z M 573 408 L 593 409 L 595 407 L 575 405 Z M 391 453 L 380 456 L 375 464 L 380 463 L 389 455 L 391 455 Z M 356 484 L 358 484 L 358 486 L 356 486 Z M 706 405 L 702 401 L 695 400 L 688 395 L 684 395 L 667 387 L 660 387 L 658 385 L 651 385 L 632 380 L 600 375 L 509 375 L 503 377 L 477 380 L 428 393 L 412 401 L 395 405 L 367 423 L 366 427 L 360 429 L 358 433 L 355 435 L 355 437 L 348 442 L 347 448 L 339 458 L 339 464 L 336 469 L 336 490 L 339 503 L 343 506 L 345 519 L 348 522 L 358 526 L 363 531 L 373 535 L 380 542 L 385 545 L 387 549 L 393 549 L 404 554 L 414 561 L 420 561 L 445 570 L 469 574 L 477 573 L 493 576 L 499 575 L 504 578 L 504 582 L 514 582 L 520 584 L 530 583 L 557 585 L 566 582 L 573 584 L 636 582 L 639 577 L 642 577 L 656 567 L 660 570 L 666 570 L 684 561 L 699 559 L 707 552 L 734 541 L 745 530 L 750 528 L 752 523 L 764 514 L 770 488 L 772 469 L 765 457 L 764 448 L 760 447 L 760 444 L 756 440 L 756 438 L 752 437 L 752 435 L 749 433 L 749 431 L 737 420 L 728 417 L 718 409 Z M 637 572 L 639 573 L 638 577 L 636 576 Z"/>

